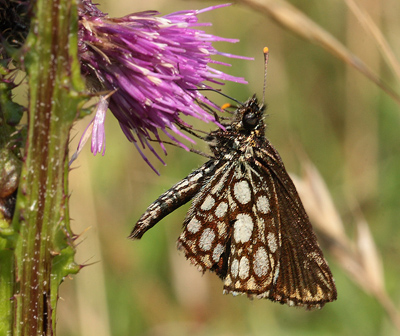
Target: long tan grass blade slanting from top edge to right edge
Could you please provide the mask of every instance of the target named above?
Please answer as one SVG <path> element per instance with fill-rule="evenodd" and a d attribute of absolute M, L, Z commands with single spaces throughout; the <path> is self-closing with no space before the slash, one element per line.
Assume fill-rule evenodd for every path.
<path fill-rule="evenodd" d="M 400 96 L 383 83 L 362 60 L 291 4 L 284 0 L 240 0 L 238 2 L 271 17 L 279 25 L 304 39 L 320 45 L 332 55 L 360 71 L 400 104 Z"/>

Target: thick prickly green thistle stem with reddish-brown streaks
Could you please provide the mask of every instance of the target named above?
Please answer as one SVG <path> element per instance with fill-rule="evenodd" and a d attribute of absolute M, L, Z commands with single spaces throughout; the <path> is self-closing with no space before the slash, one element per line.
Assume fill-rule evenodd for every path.
<path fill-rule="evenodd" d="M 68 212 L 69 131 L 83 85 L 73 0 L 38 0 L 27 39 L 28 137 L 17 206 L 14 335 L 55 335 L 58 287 L 76 273 Z M 72 28 L 71 28 L 72 27 Z"/>

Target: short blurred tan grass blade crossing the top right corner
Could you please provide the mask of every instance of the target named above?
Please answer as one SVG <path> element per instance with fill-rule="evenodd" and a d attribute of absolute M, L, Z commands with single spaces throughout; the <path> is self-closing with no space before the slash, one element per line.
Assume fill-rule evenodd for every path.
<path fill-rule="evenodd" d="M 383 36 L 381 30 L 372 20 L 371 16 L 363 9 L 361 9 L 354 0 L 345 0 L 346 5 L 353 12 L 355 17 L 360 21 L 361 25 L 365 30 L 369 31 L 376 40 L 382 55 L 385 57 L 388 64 L 392 67 L 396 73 L 398 79 L 400 79 L 400 63 L 397 60 L 392 48 Z"/>

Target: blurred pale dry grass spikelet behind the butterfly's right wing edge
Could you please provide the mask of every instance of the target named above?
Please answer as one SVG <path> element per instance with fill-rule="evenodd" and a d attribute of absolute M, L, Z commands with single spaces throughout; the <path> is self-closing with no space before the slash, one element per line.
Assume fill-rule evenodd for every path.
<path fill-rule="evenodd" d="M 317 171 L 309 162 L 304 163 L 304 177 L 292 176 L 314 227 L 329 242 L 328 248 L 350 279 L 365 292 L 373 295 L 387 312 L 393 325 L 400 330 L 400 312 L 386 292 L 382 261 L 367 222 L 357 211 L 358 237 L 352 241 L 346 236 L 339 212 Z"/>

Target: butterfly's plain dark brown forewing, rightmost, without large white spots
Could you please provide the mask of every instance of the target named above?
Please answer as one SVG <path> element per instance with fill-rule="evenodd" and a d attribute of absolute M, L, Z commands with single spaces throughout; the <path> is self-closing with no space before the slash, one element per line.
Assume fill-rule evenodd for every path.
<path fill-rule="evenodd" d="M 279 273 L 274 279 L 268 298 L 289 305 L 321 308 L 336 300 L 337 292 L 332 273 L 318 245 L 310 220 L 283 162 L 268 143 L 262 149 L 256 166 L 273 188 L 275 220 L 279 221 Z M 268 178 L 266 178 L 268 177 Z"/>

